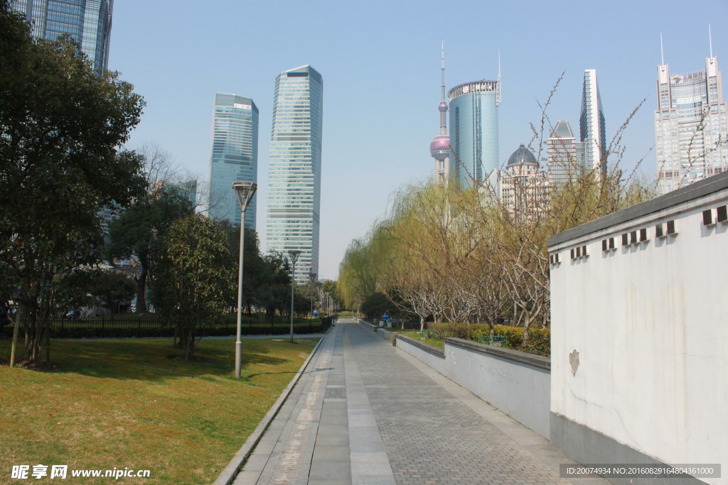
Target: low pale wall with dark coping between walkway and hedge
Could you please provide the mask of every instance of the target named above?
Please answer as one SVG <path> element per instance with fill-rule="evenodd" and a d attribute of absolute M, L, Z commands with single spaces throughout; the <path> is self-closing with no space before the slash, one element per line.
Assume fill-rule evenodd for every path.
<path fill-rule="evenodd" d="M 401 334 L 397 348 L 550 438 L 550 358 L 456 338 L 443 350 Z"/>

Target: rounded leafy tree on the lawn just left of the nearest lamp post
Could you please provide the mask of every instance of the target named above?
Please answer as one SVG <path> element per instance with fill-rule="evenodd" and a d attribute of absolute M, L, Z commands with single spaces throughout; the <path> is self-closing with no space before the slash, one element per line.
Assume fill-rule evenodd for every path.
<path fill-rule="evenodd" d="M 151 300 L 162 320 L 177 329 L 189 360 L 197 328 L 220 317 L 229 305 L 236 271 L 225 231 L 199 214 L 176 220 L 162 240 L 156 271 Z"/>

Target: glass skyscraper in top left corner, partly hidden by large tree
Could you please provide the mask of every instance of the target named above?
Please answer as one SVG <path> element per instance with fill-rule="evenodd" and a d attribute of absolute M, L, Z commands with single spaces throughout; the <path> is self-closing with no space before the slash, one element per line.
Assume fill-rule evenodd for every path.
<path fill-rule="evenodd" d="M 11 0 L 10 7 L 31 22 L 36 39 L 55 41 L 68 33 L 89 57 L 95 71 L 108 68 L 114 0 Z"/>

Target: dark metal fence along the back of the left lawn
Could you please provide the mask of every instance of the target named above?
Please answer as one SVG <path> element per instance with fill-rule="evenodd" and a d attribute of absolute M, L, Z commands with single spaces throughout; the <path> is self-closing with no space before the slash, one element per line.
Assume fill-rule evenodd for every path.
<path fill-rule="evenodd" d="M 331 326 L 331 318 L 294 318 L 293 333 L 323 333 Z M 243 335 L 281 335 L 290 332 L 290 316 L 274 318 L 245 318 Z M 4 336 L 12 335 L 12 327 L 0 329 Z M 21 330 L 22 333 L 22 330 Z M 237 319 L 226 316 L 213 323 L 198 325 L 198 337 L 234 335 Z M 53 318 L 50 323 L 51 338 L 110 338 L 110 337 L 173 337 L 173 325 L 162 324 L 158 318 L 141 315 L 100 316 L 94 318 Z"/>

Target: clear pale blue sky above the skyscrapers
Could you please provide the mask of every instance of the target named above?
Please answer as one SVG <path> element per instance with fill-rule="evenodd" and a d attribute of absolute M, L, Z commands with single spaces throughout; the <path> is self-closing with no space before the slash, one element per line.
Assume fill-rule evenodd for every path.
<path fill-rule="evenodd" d="M 432 175 L 439 133 L 440 42 L 446 87 L 495 79 L 501 56 L 499 156 L 531 140 L 545 101 L 555 124 L 578 130 L 582 77 L 596 69 L 622 166 L 654 177 L 652 121 L 660 33 L 671 73 L 700 71 L 713 54 L 728 71 L 728 1 L 188 1 L 114 2 L 109 68 L 147 106 L 129 143 L 155 143 L 207 177 L 215 92 L 253 98 L 258 134 L 258 235 L 265 247 L 268 151 L 276 76 L 310 64 L 324 79 L 320 267 L 336 278 L 349 241 L 384 217 L 390 194 Z M 173 7 L 172 7 L 173 6 Z M 725 57 L 723 57 L 725 56 Z M 727 81 L 728 83 L 728 81 Z"/>

